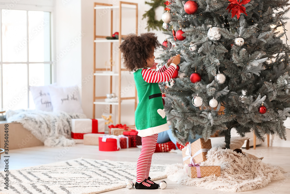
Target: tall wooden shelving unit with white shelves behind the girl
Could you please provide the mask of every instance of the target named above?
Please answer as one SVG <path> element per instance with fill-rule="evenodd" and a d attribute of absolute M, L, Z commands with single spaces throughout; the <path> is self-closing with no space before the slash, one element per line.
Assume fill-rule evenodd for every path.
<path fill-rule="evenodd" d="M 99 42 L 110 42 L 110 59 L 113 58 L 113 44 L 114 42 L 117 42 L 118 44 L 120 44 L 123 40 L 123 38 L 125 38 L 127 35 L 123 35 L 122 34 L 122 11 L 124 11 L 126 13 L 126 11 L 128 11 L 127 8 L 129 8 L 130 10 L 135 10 L 135 14 L 133 14 L 132 16 L 130 15 L 130 17 L 134 17 L 136 19 L 136 23 L 135 23 L 135 29 L 136 29 L 136 35 L 138 35 L 138 3 L 131 3 L 131 2 L 124 2 L 124 1 L 119 1 L 118 6 L 113 6 L 113 4 L 108 4 L 108 3 L 94 3 L 94 37 L 93 37 L 93 41 L 94 41 L 94 66 L 93 66 L 93 70 L 94 70 L 94 76 L 93 76 L 93 118 L 95 118 L 95 105 L 100 105 L 100 104 L 109 104 L 110 105 L 110 113 L 112 113 L 112 105 L 118 105 L 118 123 L 121 123 L 121 104 L 126 104 L 126 103 L 135 103 L 135 110 L 137 108 L 137 89 L 135 87 L 135 96 L 134 97 L 122 97 L 120 98 L 121 103 L 119 104 L 119 102 L 105 102 L 104 99 L 106 99 L 106 96 L 95 96 L 96 95 L 96 76 L 110 76 L 110 87 L 109 87 L 109 93 L 113 93 L 113 76 L 118 76 L 117 79 L 118 81 L 116 81 L 116 86 L 118 88 L 118 92 L 116 92 L 116 95 L 118 97 L 121 96 L 121 76 L 119 76 L 120 74 L 122 75 L 123 73 L 121 73 L 122 71 L 127 71 L 125 68 L 121 68 L 121 52 L 119 52 L 119 63 L 117 63 L 117 69 L 114 69 L 117 72 L 113 72 L 113 73 L 107 73 L 107 72 L 102 72 L 102 71 L 107 71 L 106 68 L 96 68 L 96 43 Z M 125 10 L 123 9 L 125 8 Z M 117 13 L 119 15 L 118 20 L 119 20 L 119 39 L 117 40 L 107 40 L 106 37 L 104 35 L 97 35 L 96 34 L 96 22 L 97 22 L 97 12 L 102 12 L 102 9 L 109 9 L 108 13 L 110 13 L 110 18 L 111 18 L 111 22 L 110 25 L 107 25 L 108 28 L 110 28 L 110 32 L 109 34 L 112 35 L 113 34 L 113 11 L 117 11 L 119 13 Z M 108 35 L 109 36 L 109 35 Z M 100 57 L 102 57 L 102 54 L 98 54 Z M 110 67 L 109 69 L 110 71 L 113 71 L 113 68 Z"/>

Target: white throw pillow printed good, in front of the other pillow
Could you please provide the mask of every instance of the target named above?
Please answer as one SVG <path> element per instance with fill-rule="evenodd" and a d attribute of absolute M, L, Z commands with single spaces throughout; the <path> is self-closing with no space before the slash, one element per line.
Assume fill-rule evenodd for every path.
<path fill-rule="evenodd" d="M 53 111 L 84 114 L 77 85 L 61 87 L 49 86 Z"/>

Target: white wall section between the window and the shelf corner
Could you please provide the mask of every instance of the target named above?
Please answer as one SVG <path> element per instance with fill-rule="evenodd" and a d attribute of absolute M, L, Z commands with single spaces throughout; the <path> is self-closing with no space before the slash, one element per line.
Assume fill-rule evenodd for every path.
<path fill-rule="evenodd" d="M 55 80 L 59 86 L 81 87 L 81 0 L 55 1 Z"/>

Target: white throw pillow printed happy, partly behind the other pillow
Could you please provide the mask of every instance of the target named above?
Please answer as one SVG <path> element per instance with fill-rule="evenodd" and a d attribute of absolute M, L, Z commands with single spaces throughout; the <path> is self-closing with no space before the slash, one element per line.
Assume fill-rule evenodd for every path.
<path fill-rule="evenodd" d="M 35 110 L 52 111 L 49 86 L 56 86 L 56 83 L 48 86 L 29 86 L 35 104 Z"/>

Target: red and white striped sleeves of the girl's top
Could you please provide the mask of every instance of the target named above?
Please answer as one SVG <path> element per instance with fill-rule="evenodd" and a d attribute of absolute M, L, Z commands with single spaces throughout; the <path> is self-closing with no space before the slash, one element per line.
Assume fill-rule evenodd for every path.
<path fill-rule="evenodd" d="M 167 63 L 163 65 L 158 71 L 151 69 L 143 69 L 142 77 L 148 83 L 158 83 L 163 81 L 169 81 L 176 69 L 176 65 L 171 63 L 168 67 Z"/>

